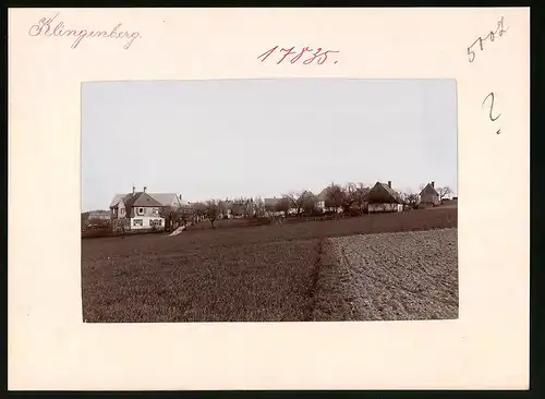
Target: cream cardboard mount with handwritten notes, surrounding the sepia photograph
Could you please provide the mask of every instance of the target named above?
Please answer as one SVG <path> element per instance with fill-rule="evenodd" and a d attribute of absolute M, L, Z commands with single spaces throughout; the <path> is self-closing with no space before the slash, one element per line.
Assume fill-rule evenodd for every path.
<path fill-rule="evenodd" d="M 56 12 L 66 28 L 122 23 L 142 38 L 71 49 L 28 35 Z M 467 47 L 501 15 L 508 33 L 469 63 Z M 529 20 L 516 8 L 11 9 L 9 388 L 526 388 Z M 256 60 L 275 45 L 341 52 L 337 64 Z M 286 76 L 457 78 L 460 318 L 83 324 L 81 82 Z M 494 123 L 481 108 L 489 92 Z"/>

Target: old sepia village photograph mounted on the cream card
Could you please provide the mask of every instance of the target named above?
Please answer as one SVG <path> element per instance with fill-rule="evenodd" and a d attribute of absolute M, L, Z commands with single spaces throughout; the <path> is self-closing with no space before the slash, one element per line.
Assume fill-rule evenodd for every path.
<path fill-rule="evenodd" d="M 84 323 L 456 319 L 455 80 L 82 84 Z"/>

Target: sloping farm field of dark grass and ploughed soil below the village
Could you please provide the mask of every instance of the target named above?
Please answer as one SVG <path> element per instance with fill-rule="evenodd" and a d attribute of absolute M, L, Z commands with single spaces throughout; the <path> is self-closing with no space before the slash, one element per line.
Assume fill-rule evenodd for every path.
<path fill-rule="evenodd" d="M 438 207 L 245 228 L 218 225 L 213 230 L 202 225 L 177 237 L 83 240 L 83 318 L 87 323 L 453 318 L 458 314 L 457 219 L 456 207 Z M 353 297 L 350 285 L 350 276 L 363 266 L 339 258 L 336 238 L 359 234 L 354 240 L 363 240 L 370 250 L 378 249 L 373 244 L 377 233 L 411 235 L 425 230 L 439 235 L 403 239 L 393 234 L 391 245 L 373 251 L 372 277 L 390 280 L 377 282 L 382 304 L 365 310 L 370 299 Z M 365 241 L 367 235 L 374 241 Z M 417 252 L 407 244 L 411 240 L 417 241 Z M 448 251 L 443 253 L 438 243 Z M 360 244 L 347 245 L 346 252 L 353 252 Z M 382 262 L 380 254 L 389 255 Z M 390 287 L 393 270 L 398 282 L 410 275 L 413 286 Z M 359 281 L 366 292 L 378 287 Z M 396 303 L 388 303 L 390 291 L 397 292 Z M 399 298 L 409 298 L 405 309 Z"/>

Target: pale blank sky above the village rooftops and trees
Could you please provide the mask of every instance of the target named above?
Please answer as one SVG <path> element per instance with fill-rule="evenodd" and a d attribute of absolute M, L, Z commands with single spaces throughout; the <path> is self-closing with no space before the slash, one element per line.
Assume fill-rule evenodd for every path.
<path fill-rule="evenodd" d="M 457 192 L 455 80 L 82 85 L 83 210 L 147 186 L 195 202 L 331 182 Z"/>

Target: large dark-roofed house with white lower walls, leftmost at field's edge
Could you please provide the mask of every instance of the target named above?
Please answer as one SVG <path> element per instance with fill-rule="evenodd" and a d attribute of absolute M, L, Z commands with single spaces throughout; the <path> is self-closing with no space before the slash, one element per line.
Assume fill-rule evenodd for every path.
<path fill-rule="evenodd" d="M 181 195 L 170 193 L 136 192 L 133 188 L 130 194 L 116 194 L 110 203 L 112 220 L 122 219 L 129 230 L 165 229 L 165 218 L 161 208 L 182 206 Z"/>

